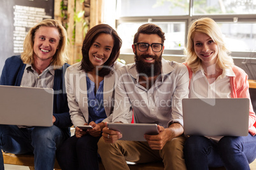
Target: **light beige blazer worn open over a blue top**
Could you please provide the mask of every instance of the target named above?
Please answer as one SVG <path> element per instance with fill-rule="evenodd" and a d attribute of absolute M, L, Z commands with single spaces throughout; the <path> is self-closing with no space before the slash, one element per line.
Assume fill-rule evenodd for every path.
<path fill-rule="evenodd" d="M 73 125 L 79 126 L 85 123 L 89 124 L 89 111 L 87 101 L 87 81 L 84 70 L 80 70 L 81 62 L 71 65 L 66 70 L 66 92 L 68 96 L 69 114 Z M 113 96 L 113 88 L 117 81 L 115 70 L 124 66 L 120 62 L 115 62 L 113 70 L 110 74 L 104 76 L 103 86 L 103 102 L 107 118 L 103 122 L 111 122 L 111 100 Z"/>

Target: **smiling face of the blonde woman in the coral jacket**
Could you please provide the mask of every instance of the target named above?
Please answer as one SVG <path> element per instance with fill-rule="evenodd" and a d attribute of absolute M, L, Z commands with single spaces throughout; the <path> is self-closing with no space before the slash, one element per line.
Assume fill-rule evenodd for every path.
<path fill-rule="evenodd" d="M 218 45 L 210 36 L 196 32 L 194 36 L 194 49 L 203 65 L 210 66 L 217 62 Z"/>

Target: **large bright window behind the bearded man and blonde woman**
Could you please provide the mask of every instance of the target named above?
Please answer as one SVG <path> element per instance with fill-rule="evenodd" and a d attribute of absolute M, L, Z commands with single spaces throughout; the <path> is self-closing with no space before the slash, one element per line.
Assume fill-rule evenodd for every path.
<path fill-rule="evenodd" d="M 255 0 L 117 0 L 116 27 L 123 40 L 121 53 L 132 53 L 133 36 L 143 23 L 166 33 L 166 55 L 183 55 L 189 23 L 208 16 L 220 25 L 234 57 L 256 51 Z M 255 55 L 254 55 L 255 56 Z"/>

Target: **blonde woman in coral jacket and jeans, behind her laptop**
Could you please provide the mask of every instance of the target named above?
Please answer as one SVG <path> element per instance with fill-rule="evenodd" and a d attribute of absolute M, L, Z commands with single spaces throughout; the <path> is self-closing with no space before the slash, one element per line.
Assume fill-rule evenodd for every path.
<path fill-rule="evenodd" d="M 248 75 L 236 67 L 222 32 L 211 18 L 194 20 L 187 37 L 190 98 L 249 98 Z M 190 136 L 184 155 L 188 169 L 250 169 L 256 157 L 255 113 L 250 103 L 248 136 Z M 239 126 L 239 124 L 238 124 Z"/>

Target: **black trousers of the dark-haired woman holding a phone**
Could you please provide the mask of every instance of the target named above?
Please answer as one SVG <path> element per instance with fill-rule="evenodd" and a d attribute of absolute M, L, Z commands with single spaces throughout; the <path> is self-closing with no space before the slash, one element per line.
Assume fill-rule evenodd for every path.
<path fill-rule="evenodd" d="M 57 150 L 57 160 L 61 169 L 74 170 L 74 169 L 99 169 L 97 142 L 99 137 L 93 137 L 89 134 L 76 138 L 72 136 L 64 141 L 59 150 Z"/>

